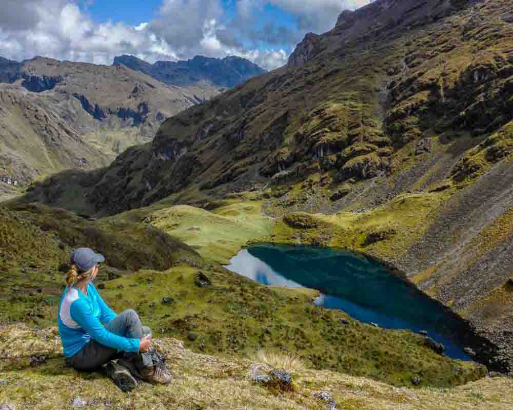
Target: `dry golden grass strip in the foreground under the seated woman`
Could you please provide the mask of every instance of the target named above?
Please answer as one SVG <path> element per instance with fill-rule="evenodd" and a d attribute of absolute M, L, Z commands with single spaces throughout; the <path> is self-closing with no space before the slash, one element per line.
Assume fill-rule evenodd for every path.
<path fill-rule="evenodd" d="M 174 380 L 166 386 L 143 383 L 122 393 L 97 373 L 64 367 L 56 329 L 34 331 L 24 325 L 0 328 L 0 408 L 71 408 L 75 398 L 88 409 L 325 409 L 314 393 L 331 394 L 340 409 L 358 410 L 506 410 L 513 408 L 513 379 L 484 378 L 455 388 L 398 388 L 362 377 L 309 369 L 292 370 L 294 392 L 274 394 L 248 376 L 251 360 L 193 353 L 176 339 L 155 339 Z M 31 355 L 49 358 L 28 364 Z"/>

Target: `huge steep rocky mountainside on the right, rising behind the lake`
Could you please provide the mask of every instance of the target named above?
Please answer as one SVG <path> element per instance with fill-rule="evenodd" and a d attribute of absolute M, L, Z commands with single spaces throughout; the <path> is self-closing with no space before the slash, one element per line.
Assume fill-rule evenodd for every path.
<path fill-rule="evenodd" d="M 482 362 L 511 371 L 510 6 L 377 0 L 344 12 L 288 67 L 169 118 L 107 170 L 56 176 L 26 200 L 100 216 L 151 205 L 128 214 L 145 218 L 257 190 L 271 240 L 387 261 L 491 343 L 476 347 Z M 69 188 L 87 196 L 69 203 Z"/>

